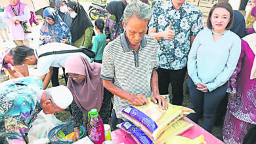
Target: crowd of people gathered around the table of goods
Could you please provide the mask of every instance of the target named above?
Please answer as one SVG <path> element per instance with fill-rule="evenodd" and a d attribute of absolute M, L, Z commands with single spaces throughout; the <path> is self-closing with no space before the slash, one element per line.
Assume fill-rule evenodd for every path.
<path fill-rule="evenodd" d="M 182 105 L 186 75 L 196 112 L 188 118 L 198 123 L 203 115 L 203 128 L 212 132 L 226 114 L 224 143 L 252 141 L 247 133 L 256 124 L 256 22 L 245 28 L 244 16 L 229 3 L 213 5 L 203 27 L 202 13 L 185 0 L 159 1 L 153 8 L 148 1 L 111 1 L 106 20 L 94 24 L 77 0 L 56 0 L 56 10 L 43 11 L 39 46 L 30 48 L 20 25 L 30 10 L 20 0 L 9 1 L 3 21 L 16 47 L 1 51 L 0 70 L 16 79 L 0 84 L 0 143 L 28 143 L 41 110 L 57 115 L 70 109 L 74 141 L 93 108 L 104 124 L 111 117 L 116 130 L 125 121 L 121 111 L 146 105 L 148 98 L 168 109 L 162 95 L 169 94 L 170 83 L 168 102 Z M 252 1 L 251 16 L 255 6 Z M 36 77 L 27 77 L 27 65 L 37 65 Z M 59 67 L 66 86 L 59 86 Z M 53 88 L 47 88 L 50 81 Z"/>

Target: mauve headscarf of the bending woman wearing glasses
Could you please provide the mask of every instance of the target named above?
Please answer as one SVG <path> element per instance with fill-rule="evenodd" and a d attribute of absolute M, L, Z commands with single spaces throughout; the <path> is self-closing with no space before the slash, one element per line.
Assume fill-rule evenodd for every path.
<path fill-rule="evenodd" d="M 84 115 L 91 109 L 100 111 L 103 101 L 103 84 L 100 79 L 100 63 L 89 63 L 85 56 L 70 56 L 65 63 L 66 73 L 84 75 L 85 80 L 77 83 L 68 78 L 68 89 L 73 94 L 74 101 Z"/>

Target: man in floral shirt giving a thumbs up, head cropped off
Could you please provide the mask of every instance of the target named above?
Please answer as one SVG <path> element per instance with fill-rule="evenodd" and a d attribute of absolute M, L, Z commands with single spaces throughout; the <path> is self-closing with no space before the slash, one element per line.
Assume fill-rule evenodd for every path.
<path fill-rule="evenodd" d="M 172 103 L 181 105 L 188 52 L 203 29 L 202 14 L 184 0 L 160 1 L 154 5 L 149 26 L 149 35 L 158 41 L 159 92 L 168 94 L 171 82 Z"/>

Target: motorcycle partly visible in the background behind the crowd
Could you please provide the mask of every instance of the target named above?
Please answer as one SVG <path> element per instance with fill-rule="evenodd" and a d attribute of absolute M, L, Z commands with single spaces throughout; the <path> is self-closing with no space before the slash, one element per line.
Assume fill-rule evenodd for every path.
<path fill-rule="evenodd" d="M 108 16 L 108 10 L 106 10 L 106 5 L 91 3 L 88 11 L 91 20 L 96 20 L 96 18 L 106 19 L 106 17 Z"/>

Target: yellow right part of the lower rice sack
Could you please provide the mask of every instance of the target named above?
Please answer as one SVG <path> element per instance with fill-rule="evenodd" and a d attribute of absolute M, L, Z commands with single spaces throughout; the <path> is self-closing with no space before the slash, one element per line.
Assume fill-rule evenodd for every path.
<path fill-rule="evenodd" d="M 165 143 L 171 137 L 176 136 L 176 135 L 180 135 L 183 132 L 186 132 L 187 130 L 192 128 L 192 127 L 194 127 L 194 124 L 192 124 L 192 123 L 188 122 L 187 120 L 184 120 L 183 118 L 181 118 L 180 120 L 178 120 L 177 122 L 175 122 L 174 124 L 169 126 L 169 128 L 167 128 L 165 130 L 165 132 L 163 132 L 163 134 L 160 136 L 159 139 L 156 140 L 155 143 L 156 144 Z"/>

